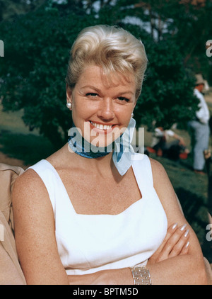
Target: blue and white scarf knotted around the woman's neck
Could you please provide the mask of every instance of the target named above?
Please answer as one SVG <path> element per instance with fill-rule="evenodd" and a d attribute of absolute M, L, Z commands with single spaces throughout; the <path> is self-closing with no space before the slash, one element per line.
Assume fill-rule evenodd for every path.
<path fill-rule="evenodd" d="M 122 176 L 131 167 L 132 155 L 134 149 L 131 146 L 131 140 L 134 134 L 134 128 L 136 121 L 131 118 L 128 127 L 124 133 L 114 140 L 111 145 L 107 147 L 95 147 L 83 138 L 80 132 L 78 132 L 76 126 L 73 124 L 69 130 L 68 144 L 73 152 L 79 154 L 81 157 L 88 159 L 95 159 L 99 157 L 105 157 L 107 154 L 112 153 L 112 160 L 115 167 Z"/>

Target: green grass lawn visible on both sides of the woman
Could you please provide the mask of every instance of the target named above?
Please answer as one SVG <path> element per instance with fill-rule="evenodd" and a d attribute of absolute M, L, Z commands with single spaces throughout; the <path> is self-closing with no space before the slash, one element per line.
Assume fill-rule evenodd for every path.
<path fill-rule="evenodd" d="M 212 114 L 212 104 L 209 105 L 209 108 Z M 11 164 L 13 164 L 13 159 L 18 159 L 20 166 L 26 169 L 52 154 L 54 147 L 49 140 L 40 136 L 37 130 L 30 132 L 23 123 L 22 115 L 23 111 L 3 112 L 0 105 L 0 152 L 3 154 L 3 156 L 0 155 L 0 162 L 5 162 L 5 157 L 11 159 Z M 175 132 L 182 135 L 190 147 L 188 132 L 186 130 L 175 130 Z M 151 145 L 151 137 L 151 132 L 145 128 L 146 146 Z M 208 224 L 207 176 L 194 174 L 191 170 L 191 159 L 175 162 L 164 157 L 157 157 L 155 154 L 150 154 L 150 157 L 158 159 L 165 167 L 182 205 L 184 215 L 196 232 L 206 257 L 210 260 L 212 256 L 208 253 L 209 242 L 206 242 L 206 225 Z"/>

